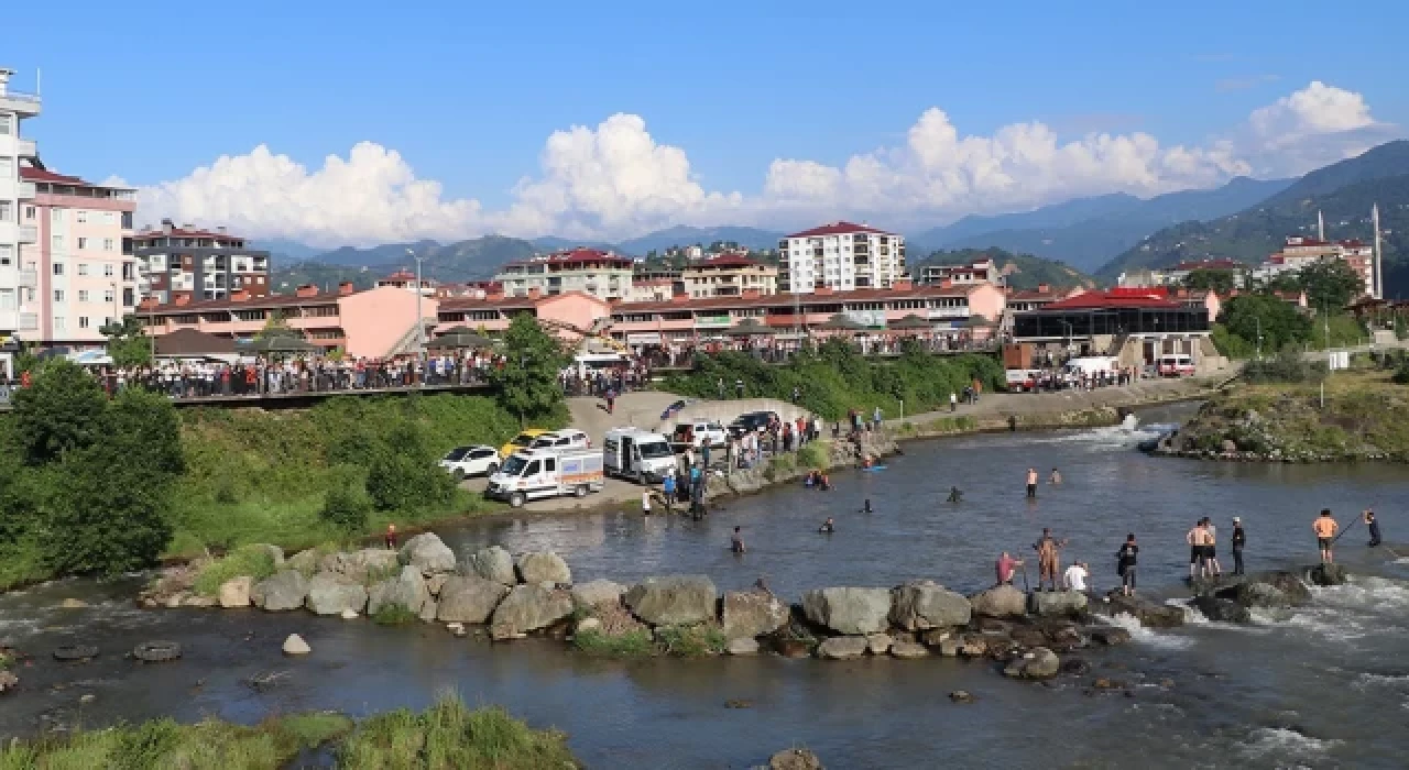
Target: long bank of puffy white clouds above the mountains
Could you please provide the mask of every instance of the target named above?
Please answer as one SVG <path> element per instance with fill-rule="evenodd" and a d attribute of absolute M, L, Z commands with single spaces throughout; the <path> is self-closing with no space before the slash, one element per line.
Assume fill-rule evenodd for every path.
<path fill-rule="evenodd" d="M 657 142 L 640 115 L 616 114 L 548 137 L 538 170 L 511 203 L 486 211 L 417 179 L 395 151 L 358 144 L 310 169 L 268 146 L 223 156 L 189 176 L 144 187 L 139 218 L 225 224 L 262 238 L 317 245 L 483 232 L 620 238 L 671 224 L 790 227 L 838 217 L 892 225 L 1041 206 L 1076 196 L 1138 196 L 1209 187 L 1236 175 L 1286 176 L 1348 158 L 1398 130 L 1364 97 L 1313 82 L 1254 110 L 1202 145 L 1164 145 L 1143 132 L 1061 138 L 1043 122 L 965 135 L 938 107 L 905 142 L 836 166 L 775 159 L 757 194 L 706 189 L 679 146 Z"/>

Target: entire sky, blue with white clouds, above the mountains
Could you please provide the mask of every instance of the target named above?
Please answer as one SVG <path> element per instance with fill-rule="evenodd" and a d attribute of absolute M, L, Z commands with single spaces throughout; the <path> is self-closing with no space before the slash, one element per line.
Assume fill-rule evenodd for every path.
<path fill-rule="evenodd" d="M 323 246 L 910 231 L 1406 135 L 1409 4 L 1076 6 L 73 0 L 6 14 L 0 66 L 138 224 Z"/>

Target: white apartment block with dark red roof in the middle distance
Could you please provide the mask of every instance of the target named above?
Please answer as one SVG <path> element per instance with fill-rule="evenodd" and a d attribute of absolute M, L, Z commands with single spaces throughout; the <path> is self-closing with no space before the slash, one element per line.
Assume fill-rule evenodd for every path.
<path fill-rule="evenodd" d="M 889 289 L 905 277 L 905 238 L 852 222 L 830 222 L 778 242 L 778 290 Z"/>

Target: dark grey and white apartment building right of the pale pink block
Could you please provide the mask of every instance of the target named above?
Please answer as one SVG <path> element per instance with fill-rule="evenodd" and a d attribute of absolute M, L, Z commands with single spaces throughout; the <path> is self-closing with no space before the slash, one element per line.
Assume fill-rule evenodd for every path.
<path fill-rule="evenodd" d="M 245 246 L 245 239 L 218 227 L 214 232 L 162 220 L 161 229 L 132 236 L 138 293 L 158 303 L 224 300 L 244 290 L 269 294 L 269 252 Z"/>

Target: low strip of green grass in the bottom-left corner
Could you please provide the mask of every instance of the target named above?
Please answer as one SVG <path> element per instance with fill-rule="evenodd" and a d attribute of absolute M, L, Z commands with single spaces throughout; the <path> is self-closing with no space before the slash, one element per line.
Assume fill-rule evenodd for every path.
<path fill-rule="evenodd" d="M 252 728 L 214 719 L 194 725 L 156 719 L 11 742 L 0 750 L 0 770 L 273 770 L 302 749 L 320 746 L 351 728 L 352 721 L 337 714 L 272 718 Z"/>

